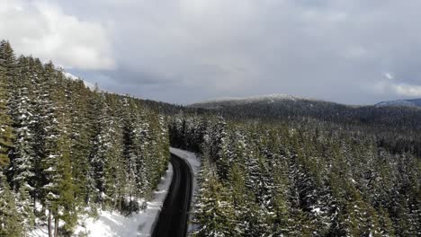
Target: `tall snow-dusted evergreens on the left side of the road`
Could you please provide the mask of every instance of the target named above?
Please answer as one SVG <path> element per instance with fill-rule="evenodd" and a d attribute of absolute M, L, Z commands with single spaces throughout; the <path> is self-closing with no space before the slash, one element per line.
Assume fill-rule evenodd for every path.
<path fill-rule="evenodd" d="M 166 118 L 0 42 L 0 236 L 70 235 L 81 214 L 129 215 L 166 171 Z"/>

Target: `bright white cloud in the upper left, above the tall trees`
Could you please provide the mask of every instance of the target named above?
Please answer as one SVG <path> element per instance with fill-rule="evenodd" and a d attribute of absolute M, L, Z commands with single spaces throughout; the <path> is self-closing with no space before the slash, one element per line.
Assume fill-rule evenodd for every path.
<path fill-rule="evenodd" d="M 81 21 L 47 1 L 0 0 L 0 38 L 10 40 L 17 54 L 33 54 L 65 68 L 115 66 L 101 24 Z"/>

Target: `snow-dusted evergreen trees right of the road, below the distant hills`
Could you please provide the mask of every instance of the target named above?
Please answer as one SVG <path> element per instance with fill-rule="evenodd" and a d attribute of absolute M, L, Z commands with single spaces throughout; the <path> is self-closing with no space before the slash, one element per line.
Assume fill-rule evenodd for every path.
<path fill-rule="evenodd" d="M 419 236 L 421 159 L 365 128 L 175 115 L 171 144 L 202 156 L 193 236 Z"/>

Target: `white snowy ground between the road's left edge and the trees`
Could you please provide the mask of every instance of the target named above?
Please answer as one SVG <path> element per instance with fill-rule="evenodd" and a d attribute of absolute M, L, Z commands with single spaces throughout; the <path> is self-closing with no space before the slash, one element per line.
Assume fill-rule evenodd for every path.
<path fill-rule="evenodd" d="M 166 194 L 172 178 L 173 166 L 169 164 L 166 175 L 162 178 L 161 183 L 157 187 L 155 198 L 148 202 L 146 210 L 129 217 L 110 211 L 101 211 L 99 218 L 97 219 L 82 216 L 81 223 L 85 224 L 79 224 L 76 227 L 75 236 L 82 233 L 87 233 L 87 236 L 89 237 L 150 236 L 153 227 L 157 222 L 164 200 L 166 199 Z M 49 234 L 45 226 L 40 226 L 29 233 L 28 236 L 44 237 L 49 236 Z"/>

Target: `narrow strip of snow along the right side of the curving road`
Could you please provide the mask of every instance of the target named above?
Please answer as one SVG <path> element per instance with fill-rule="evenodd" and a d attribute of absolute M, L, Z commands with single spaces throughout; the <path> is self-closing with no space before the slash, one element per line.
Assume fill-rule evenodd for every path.
<path fill-rule="evenodd" d="M 199 160 L 199 158 L 196 156 L 196 154 L 184 151 L 184 150 L 180 150 L 174 147 L 170 148 L 171 153 L 178 155 L 179 157 L 183 158 L 185 161 L 189 162 L 190 166 L 192 167 L 193 170 L 193 196 L 192 196 L 192 203 L 191 203 L 191 208 L 194 207 L 194 203 L 195 203 L 195 199 L 196 199 L 196 195 L 197 195 L 197 191 L 199 189 L 198 183 L 197 183 L 197 177 L 199 175 L 199 171 L 201 170 L 201 161 Z M 191 218 L 192 215 L 189 215 L 189 228 L 188 231 L 192 231 L 194 230 L 194 226 L 191 222 Z"/>

